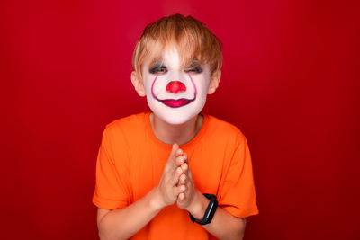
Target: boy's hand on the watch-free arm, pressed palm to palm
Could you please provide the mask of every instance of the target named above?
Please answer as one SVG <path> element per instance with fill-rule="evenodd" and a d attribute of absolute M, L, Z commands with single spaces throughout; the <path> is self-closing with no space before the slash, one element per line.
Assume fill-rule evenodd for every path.
<path fill-rule="evenodd" d="M 156 187 L 157 202 L 160 208 L 174 204 L 180 193 L 185 191 L 185 174 L 188 169 L 184 152 L 177 144 L 173 145 L 164 167 L 160 182 Z"/>

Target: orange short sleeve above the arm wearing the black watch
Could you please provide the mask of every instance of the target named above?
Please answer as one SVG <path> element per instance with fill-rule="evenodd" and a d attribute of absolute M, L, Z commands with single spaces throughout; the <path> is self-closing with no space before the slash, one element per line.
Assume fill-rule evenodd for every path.
<path fill-rule="evenodd" d="M 231 215 L 246 218 L 258 214 L 251 156 L 243 135 L 237 138 L 219 193 L 220 208 Z"/>

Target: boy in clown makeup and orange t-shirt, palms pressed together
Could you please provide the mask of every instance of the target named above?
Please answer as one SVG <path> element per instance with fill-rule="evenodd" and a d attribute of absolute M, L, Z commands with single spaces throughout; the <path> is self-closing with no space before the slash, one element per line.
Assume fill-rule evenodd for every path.
<path fill-rule="evenodd" d="M 101 239 L 241 239 L 257 203 L 246 138 L 201 113 L 220 82 L 219 40 L 180 14 L 149 24 L 131 82 L 151 112 L 109 124 L 93 202 Z"/>

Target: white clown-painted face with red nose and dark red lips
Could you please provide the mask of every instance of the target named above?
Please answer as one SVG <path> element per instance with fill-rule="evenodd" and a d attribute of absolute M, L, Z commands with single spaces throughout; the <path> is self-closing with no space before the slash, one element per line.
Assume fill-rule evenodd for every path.
<path fill-rule="evenodd" d="M 155 64 L 147 61 L 143 79 L 151 111 L 169 124 L 182 124 L 202 111 L 211 80 L 208 65 L 181 67 L 176 49 Z"/>

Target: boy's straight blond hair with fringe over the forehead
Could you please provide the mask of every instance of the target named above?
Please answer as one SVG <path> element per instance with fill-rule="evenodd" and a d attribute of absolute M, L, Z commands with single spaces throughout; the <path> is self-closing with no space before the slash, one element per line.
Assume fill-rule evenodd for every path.
<path fill-rule="evenodd" d="M 177 49 L 183 67 L 197 60 L 199 64 L 209 65 L 211 75 L 221 68 L 220 40 L 192 16 L 174 14 L 146 26 L 132 56 L 133 70 L 141 76 L 144 62 L 156 61 L 169 47 Z"/>

